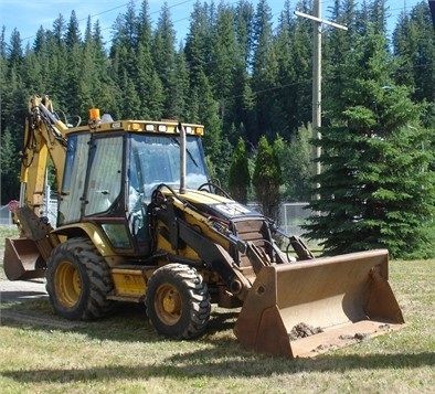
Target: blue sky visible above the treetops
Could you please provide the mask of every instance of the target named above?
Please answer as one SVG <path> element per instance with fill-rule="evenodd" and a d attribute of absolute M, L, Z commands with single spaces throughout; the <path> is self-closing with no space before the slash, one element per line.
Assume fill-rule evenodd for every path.
<path fill-rule="evenodd" d="M 185 39 L 189 30 L 189 18 L 197 0 L 167 0 L 171 20 L 177 33 L 178 41 Z M 201 3 L 206 0 L 200 0 Z M 221 0 L 214 0 L 217 4 Z M 227 4 L 235 4 L 238 0 L 225 0 Z M 399 14 L 403 10 L 410 11 L 422 0 L 388 0 L 390 7 L 389 29 L 393 29 Z M 136 0 L 136 9 L 139 11 L 141 0 Z M 210 2 L 210 0 L 209 0 Z M 251 0 L 256 7 L 257 0 Z M 267 0 L 276 21 L 284 8 L 284 0 Z M 119 13 L 127 10 L 129 0 L 0 0 L 0 26 L 6 28 L 6 40 L 9 42 L 13 29 L 20 32 L 23 47 L 29 43 L 33 44 L 35 33 L 42 25 L 45 30 L 53 28 L 53 22 L 60 14 L 66 22 L 70 20 L 71 12 L 74 10 L 79 21 L 82 34 L 85 31 L 87 18 L 91 15 L 92 22 L 99 20 L 102 33 L 106 41 L 112 39 L 112 26 Z M 157 23 L 163 1 L 149 0 L 149 15 L 151 21 Z M 290 1 L 296 4 L 297 0 Z M 328 19 L 328 8 L 333 4 L 333 0 L 321 0 L 321 13 Z M 276 22 L 274 26 L 276 25 Z"/>

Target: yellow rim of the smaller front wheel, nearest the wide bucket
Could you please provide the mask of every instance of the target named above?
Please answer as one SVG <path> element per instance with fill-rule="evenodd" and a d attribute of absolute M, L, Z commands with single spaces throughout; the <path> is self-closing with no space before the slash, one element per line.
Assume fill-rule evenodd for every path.
<path fill-rule="evenodd" d="M 156 291 L 156 313 L 167 326 L 176 324 L 181 317 L 182 302 L 180 294 L 172 285 L 161 285 Z"/>

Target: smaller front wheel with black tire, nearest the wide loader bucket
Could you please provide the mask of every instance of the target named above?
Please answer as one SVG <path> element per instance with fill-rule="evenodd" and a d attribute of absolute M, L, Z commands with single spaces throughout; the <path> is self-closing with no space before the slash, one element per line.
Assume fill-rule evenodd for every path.
<path fill-rule="evenodd" d="M 145 305 L 152 326 L 168 338 L 195 338 L 210 320 L 208 286 L 194 268 L 182 264 L 168 264 L 153 273 Z"/>

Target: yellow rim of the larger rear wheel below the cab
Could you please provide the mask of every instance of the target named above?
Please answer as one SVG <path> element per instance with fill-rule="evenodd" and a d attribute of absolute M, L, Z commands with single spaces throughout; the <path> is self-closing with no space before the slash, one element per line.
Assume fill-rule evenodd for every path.
<path fill-rule="evenodd" d="M 82 292 L 82 280 L 78 270 L 71 262 L 62 262 L 54 278 L 57 300 L 66 308 L 74 307 Z"/>

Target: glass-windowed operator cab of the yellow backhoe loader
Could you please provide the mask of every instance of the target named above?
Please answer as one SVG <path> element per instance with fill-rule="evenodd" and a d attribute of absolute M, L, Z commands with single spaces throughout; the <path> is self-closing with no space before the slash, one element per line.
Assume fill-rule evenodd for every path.
<path fill-rule="evenodd" d="M 117 253 L 150 254 L 146 227 L 152 191 L 161 183 L 173 190 L 181 184 L 180 135 L 177 124 L 170 125 L 159 123 L 153 132 L 147 131 L 149 124 L 130 120 L 102 124 L 97 130 L 72 130 L 57 226 L 93 222 Z M 187 189 L 198 189 L 209 180 L 201 134 L 187 135 Z"/>

